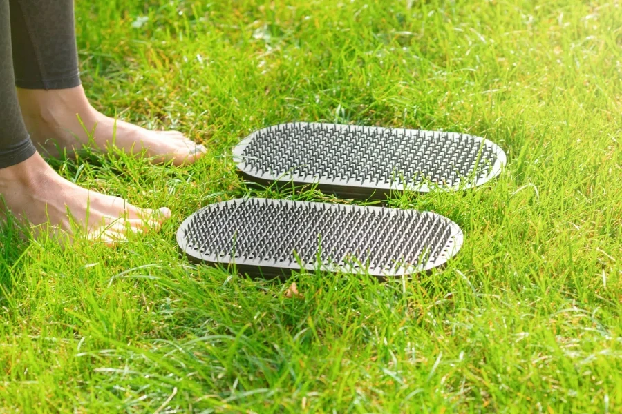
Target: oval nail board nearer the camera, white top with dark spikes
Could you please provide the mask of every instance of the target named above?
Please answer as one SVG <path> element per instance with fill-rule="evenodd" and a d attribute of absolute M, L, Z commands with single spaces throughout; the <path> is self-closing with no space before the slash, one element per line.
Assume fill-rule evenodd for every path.
<path fill-rule="evenodd" d="M 234 199 L 188 217 L 177 241 L 194 262 L 275 277 L 292 270 L 396 277 L 444 264 L 462 231 L 431 212 L 272 199 Z"/>

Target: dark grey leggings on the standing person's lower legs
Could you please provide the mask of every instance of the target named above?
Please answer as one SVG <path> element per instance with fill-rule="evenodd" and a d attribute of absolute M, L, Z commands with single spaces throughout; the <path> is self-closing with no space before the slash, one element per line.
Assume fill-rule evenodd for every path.
<path fill-rule="evenodd" d="M 79 86 L 73 0 L 0 0 L 0 168 L 35 153 L 15 86 Z"/>

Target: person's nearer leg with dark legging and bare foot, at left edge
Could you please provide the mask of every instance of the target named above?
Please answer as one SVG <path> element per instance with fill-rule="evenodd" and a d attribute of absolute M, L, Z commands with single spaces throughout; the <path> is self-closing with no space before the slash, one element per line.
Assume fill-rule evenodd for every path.
<path fill-rule="evenodd" d="M 128 231 L 158 227 L 168 209 L 140 209 L 119 197 L 81 188 L 60 177 L 37 153 L 21 119 L 13 78 L 8 1 L 0 0 L 0 214 L 70 233 L 74 224 L 106 244 Z M 68 215 L 71 217 L 69 217 Z"/>

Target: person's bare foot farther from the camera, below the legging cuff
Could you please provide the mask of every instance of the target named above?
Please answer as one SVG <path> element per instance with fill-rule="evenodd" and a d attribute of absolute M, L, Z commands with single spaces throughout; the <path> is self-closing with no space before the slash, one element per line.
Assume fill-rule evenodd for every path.
<path fill-rule="evenodd" d="M 58 148 L 72 152 L 92 144 L 100 150 L 113 145 L 127 154 L 146 150 L 156 162 L 173 160 L 180 166 L 192 164 L 205 152 L 204 146 L 180 132 L 150 131 L 106 117 L 88 103 L 82 86 L 60 90 L 18 88 L 17 95 L 30 137 L 44 155 L 56 157 Z M 92 141 L 84 127 L 95 131 Z"/>

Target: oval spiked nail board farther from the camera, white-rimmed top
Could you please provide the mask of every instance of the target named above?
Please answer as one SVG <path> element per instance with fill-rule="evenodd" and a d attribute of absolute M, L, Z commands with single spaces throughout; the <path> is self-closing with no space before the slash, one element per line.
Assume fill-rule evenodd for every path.
<path fill-rule="evenodd" d="M 305 122 L 253 132 L 233 155 L 257 184 L 316 185 L 359 199 L 480 186 L 506 163 L 499 146 L 473 135 Z"/>

